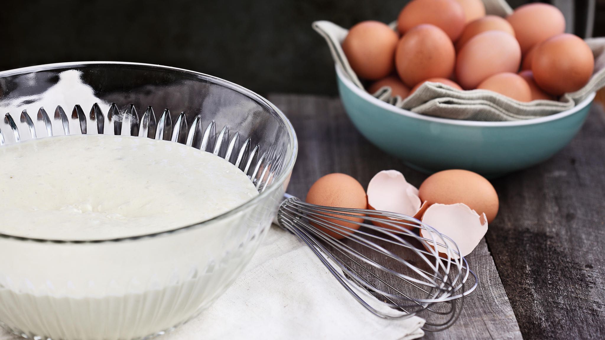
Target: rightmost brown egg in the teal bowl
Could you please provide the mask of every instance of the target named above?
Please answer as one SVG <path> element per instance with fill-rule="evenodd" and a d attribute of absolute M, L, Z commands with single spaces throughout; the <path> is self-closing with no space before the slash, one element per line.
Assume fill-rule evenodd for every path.
<path fill-rule="evenodd" d="M 559 34 L 538 45 L 531 66 L 538 86 L 554 96 L 580 90 L 594 68 L 590 47 L 574 34 Z"/>

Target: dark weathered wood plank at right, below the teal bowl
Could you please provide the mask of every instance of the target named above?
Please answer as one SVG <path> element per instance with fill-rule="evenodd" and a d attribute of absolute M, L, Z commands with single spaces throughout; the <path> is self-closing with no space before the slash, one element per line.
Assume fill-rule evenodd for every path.
<path fill-rule="evenodd" d="M 523 336 L 605 338 L 603 109 L 551 160 L 494 184 L 487 240 Z"/>

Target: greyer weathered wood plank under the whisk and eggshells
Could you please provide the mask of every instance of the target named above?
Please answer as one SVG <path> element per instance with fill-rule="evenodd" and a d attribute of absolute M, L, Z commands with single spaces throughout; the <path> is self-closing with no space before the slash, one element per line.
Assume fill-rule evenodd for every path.
<path fill-rule="evenodd" d="M 364 186 L 385 169 L 401 171 L 416 186 L 426 178 L 367 142 L 349 122 L 338 99 L 277 94 L 269 99 L 289 117 L 298 134 L 299 155 L 288 189 L 291 194 L 304 198 L 313 182 L 330 172 L 352 175 Z M 425 338 L 520 339 L 517 320 L 485 241 L 468 260 L 480 276 L 480 286 L 465 299 L 453 327 L 427 333 Z"/>

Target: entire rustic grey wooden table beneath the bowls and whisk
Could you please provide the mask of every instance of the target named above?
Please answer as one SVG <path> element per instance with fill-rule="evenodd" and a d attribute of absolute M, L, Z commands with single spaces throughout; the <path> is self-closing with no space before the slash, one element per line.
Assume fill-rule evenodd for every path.
<path fill-rule="evenodd" d="M 339 99 L 269 96 L 292 121 L 299 154 L 289 192 L 343 172 L 367 186 L 376 172 L 408 168 L 362 137 Z M 531 147 L 531 146 L 528 146 Z M 551 160 L 492 181 L 500 212 L 468 256 L 480 278 L 460 319 L 427 339 L 605 338 L 605 112 L 595 104 L 584 128 Z"/>

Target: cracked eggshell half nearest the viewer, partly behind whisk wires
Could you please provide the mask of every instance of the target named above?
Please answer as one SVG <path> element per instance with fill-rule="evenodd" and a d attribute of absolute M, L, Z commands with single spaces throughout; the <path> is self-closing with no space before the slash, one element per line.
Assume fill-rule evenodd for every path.
<path fill-rule="evenodd" d="M 460 255 L 465 257 L 475 249 L 485 233 L 488 231 L 488 221 L 485 214 L 477 214 L 464 203 L 456 204 L 432 204 L 424 212 L 422 222 L 436 229 L 443 235 L 450 237 L 458 246 Z M 430 239 L 430 232 L 420 229 L 422 237 Z M 435 235 L 434 240 L 439 242 Z M 445 240 L 451 245 L 450 240 Z M 427 241 L 429 246 L 431 241 Z M 431 246 L 432 247 L 432 246 Z M 448 257 L 447 250 L 443 246 L 437 246 L 440 257 Z M 451 246 L 451 249 L 455 248 Z M 451 257 L 458 258 L 456 253 L 450 253 Z"/>

